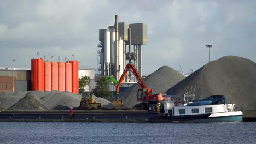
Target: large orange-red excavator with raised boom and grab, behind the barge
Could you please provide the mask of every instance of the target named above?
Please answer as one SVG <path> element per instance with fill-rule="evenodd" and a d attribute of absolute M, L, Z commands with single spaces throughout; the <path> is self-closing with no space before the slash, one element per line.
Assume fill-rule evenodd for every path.
<path fill-rule="evenodd" d="M 139 75 L 135 66 L 132 63 L 128 63 L 126 65 L 124 72 L 121 75 L 120 80 L 118 81 L 118 85 L 116 87 L 117 100 L 113 101 L 114 106 L 115 106 L 115 103 L 123 104 L 123 101 L 119 100 L 119 98 L 118 98 L 119 87 L 120 87 L 121 83 L 123 82 L 123 80 L 125 79 L 125 76 L 128 71 L 131 71 L 135 75 L 135 77 L 139 83 L 139 86 L 141 86 L 141 89 L 138 89 L 138 91 L 137 91 L 137 101 L 142 101 L 142 103 L 137 106 L 137 108 L 139 110 L 148 110 L 150 106 L 153 106 L 155 104 L 160 104 L 160 102 L 163 101 L 163 99 L 164 99 L 163 95 L 161 93 L 153 94 L 153 89 L 147 87 L 146 83 L 143 81 L 142 77 Z"/>

